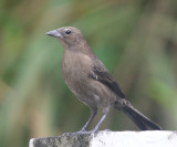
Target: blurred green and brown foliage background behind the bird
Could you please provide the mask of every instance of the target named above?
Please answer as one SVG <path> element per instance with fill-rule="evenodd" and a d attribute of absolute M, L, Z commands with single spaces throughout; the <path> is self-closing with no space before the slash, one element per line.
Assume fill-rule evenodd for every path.
<path fill-rule="evenodd" d="M 63 25 L 82 30 L 137 109 L 177 129 L 177 0 L 1 0 L 1 147 L 28 147 L 30 138 L 76 132 L 87 120 L 88 107 L 63 81 L 63 48 L 45 35 Z M 137 130 L 115 109 L 106 128 Z"/>

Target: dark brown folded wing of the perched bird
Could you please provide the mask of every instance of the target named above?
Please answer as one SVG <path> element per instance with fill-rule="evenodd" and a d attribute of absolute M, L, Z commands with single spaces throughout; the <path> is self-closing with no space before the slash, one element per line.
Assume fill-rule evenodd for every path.
<path fill-rule="evenodd" d="M 96 64 L 92 67 L 91 77 L 100 81 L 107 87 L 110 87 L 114 93 L 116 93 L 119 97 L 125 98 L 126 96 L 119 88 L 118 83 L 114 80 L 114 77 L 108 73 L 104 64 L 97 59 Z"/>

